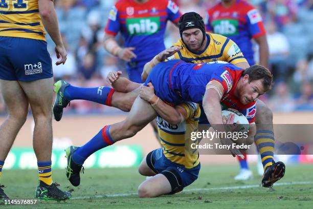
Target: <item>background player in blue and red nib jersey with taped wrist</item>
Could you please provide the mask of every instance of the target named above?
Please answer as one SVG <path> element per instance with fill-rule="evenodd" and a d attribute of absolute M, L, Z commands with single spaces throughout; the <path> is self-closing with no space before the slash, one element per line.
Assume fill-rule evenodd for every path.
<path fill-rule="evenodd" d="M 120 0 L 110 11 L 105 27 L 105 49 L 127 61 L 129 79 L 141 83 L 146 62 L 165 49 L 167 20 L 177 25 L 181 13 L 170 0 Z M 121 32 L 124 48 L 114 37 Z"/>

